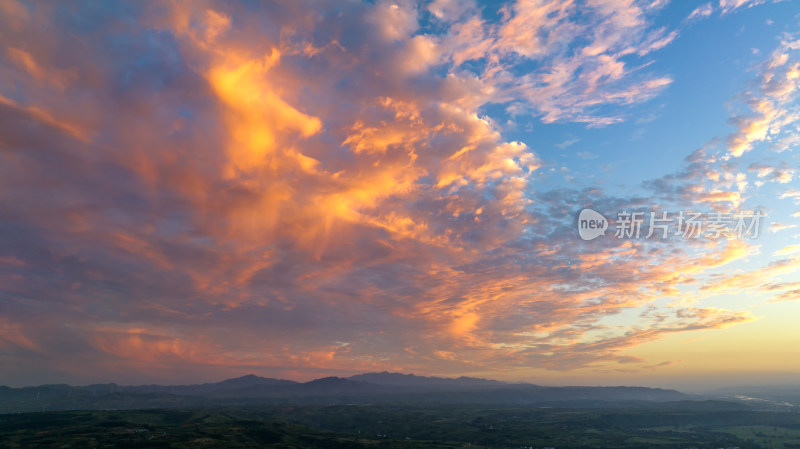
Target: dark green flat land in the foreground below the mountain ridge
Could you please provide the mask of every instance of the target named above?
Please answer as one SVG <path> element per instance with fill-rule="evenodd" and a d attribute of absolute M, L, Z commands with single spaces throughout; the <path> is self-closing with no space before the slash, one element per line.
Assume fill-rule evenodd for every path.
<path fill-rule="evenodd" d="M 800 414 L 294 406 L 0 415 L 2 448 L 800 448 Z"/>

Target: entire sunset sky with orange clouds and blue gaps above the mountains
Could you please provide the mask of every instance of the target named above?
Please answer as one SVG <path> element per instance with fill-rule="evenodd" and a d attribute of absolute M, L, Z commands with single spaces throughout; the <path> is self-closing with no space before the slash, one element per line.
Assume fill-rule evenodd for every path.
<path fill-rule="evenodd" d="M 799 95 L 796 1 L 0 0 L 0 384 L 796 383 Z"/>

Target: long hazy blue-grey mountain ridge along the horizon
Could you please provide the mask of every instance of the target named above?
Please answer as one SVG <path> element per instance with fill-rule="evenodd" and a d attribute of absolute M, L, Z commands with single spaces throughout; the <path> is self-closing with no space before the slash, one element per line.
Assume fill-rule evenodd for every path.
<path fill-rule="evenodd" d="M 276 404 L 504 404 L 606 407 L 686 401 L 675 390 L 645 387 L 545 387 L 496 380 L 365 373 L 309 382 L 253 374 L 196 385 L 65 384 L 0 387 L 0 413 L 69 409 L 123 409 Z"/>

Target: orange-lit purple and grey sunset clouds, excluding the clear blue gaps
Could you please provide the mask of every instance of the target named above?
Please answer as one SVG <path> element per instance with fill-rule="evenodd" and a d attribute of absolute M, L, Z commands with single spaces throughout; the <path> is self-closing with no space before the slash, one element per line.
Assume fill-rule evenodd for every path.
<path fill-rule="evenodd" d="M 687 300 L 608 324 L 754 249 L 573 229 L 580 207 L 738 206 L 722 161 L 695 155 L 649 198 L 539 190 L 540 155 L 482 112 L 622 121 L 672 81 L 647 67 L 678 36 L 658 3 L 3 1 L 11 378 L 643 368 L 626 350 L 750 320 Z M 733 120 L 732 156 L 793 123 L 795 50 Z"/>

